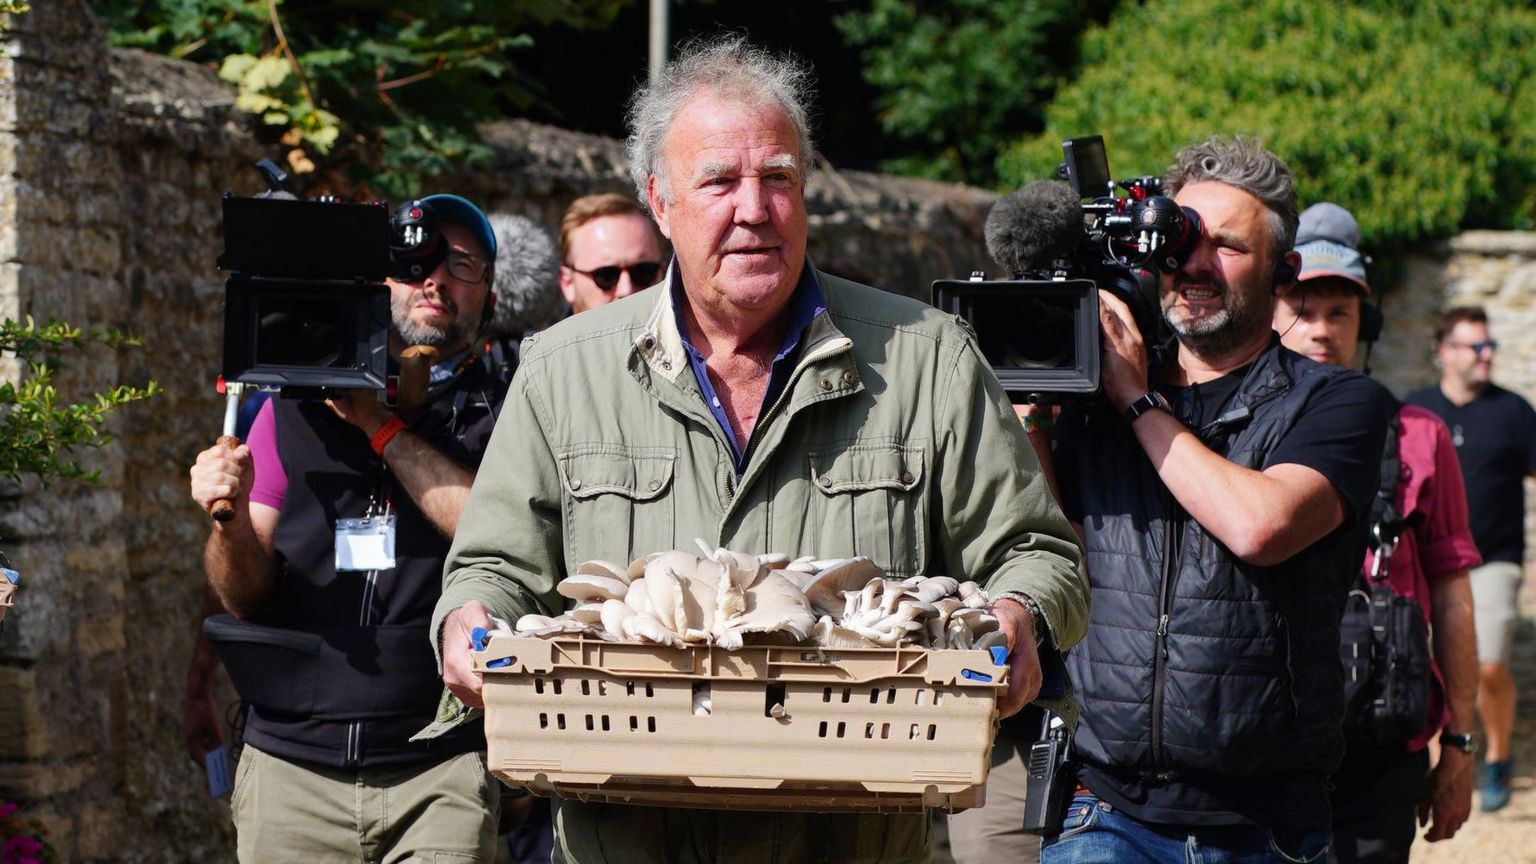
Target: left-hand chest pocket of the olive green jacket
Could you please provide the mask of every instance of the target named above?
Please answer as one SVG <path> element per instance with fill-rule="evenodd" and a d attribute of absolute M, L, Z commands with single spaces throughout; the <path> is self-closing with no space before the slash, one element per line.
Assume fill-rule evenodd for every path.
<path fill-rule="evenodd" d="M 628 564 L 676 547 L 676 455 L 659 447 L 594 446 L 559 457 L 570 564 Z"/>

